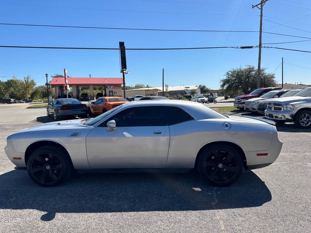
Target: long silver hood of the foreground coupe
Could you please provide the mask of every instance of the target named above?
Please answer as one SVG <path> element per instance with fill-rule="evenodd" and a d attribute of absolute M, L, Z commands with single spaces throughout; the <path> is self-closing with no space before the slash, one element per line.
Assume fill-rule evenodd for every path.
<path fill-rule="evenodd" d="M 55 129 L 69 129 L 69 128 L 77 128 L 83 125 L 80 124 L 81 119 L 76 120 L 67 120 L 67 121 L 55 121 L 51 123 L 45 123 L 35 126 L 30 126 L 29 128 L 20 130 L 19 132 L 27 132 L 27 131 L 36 131 L 36 130 L 55 130 Z"/>

